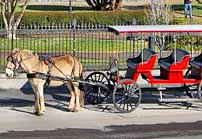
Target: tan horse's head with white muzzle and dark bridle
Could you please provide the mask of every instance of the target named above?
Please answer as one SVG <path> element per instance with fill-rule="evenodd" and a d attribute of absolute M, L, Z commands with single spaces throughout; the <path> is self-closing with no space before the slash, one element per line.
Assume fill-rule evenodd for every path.
<path fill-rule="evenodd" d="M 5 72 L 8 77 L 14 76 L 14 72 L 15 70 L 19 68 L 21 60 L 22 60 L 22 56 L 21 56 L 20 50 L 14 49 L 7 58 Z"/>

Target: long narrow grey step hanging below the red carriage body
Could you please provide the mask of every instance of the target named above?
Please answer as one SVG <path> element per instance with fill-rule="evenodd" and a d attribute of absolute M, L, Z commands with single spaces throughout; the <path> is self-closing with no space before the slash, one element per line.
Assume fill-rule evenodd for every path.
<path fill-rule="evenodd" d="M 198 99 L 193 99 L 193 98 L 166 98 L 166 99 L 158 99 L 159 102 L 161 103 L 176 103 L 176 102 L 194 102 L 194 101 L 199 101 Z"/>

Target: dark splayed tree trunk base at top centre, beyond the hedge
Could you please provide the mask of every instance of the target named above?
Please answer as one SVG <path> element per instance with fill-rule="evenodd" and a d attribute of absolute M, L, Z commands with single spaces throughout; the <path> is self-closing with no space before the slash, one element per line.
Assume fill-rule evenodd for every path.
<path fill-rule="evenodd" d="M 120 10 L 123 0 L 86 0 L 95 10 Z"/>

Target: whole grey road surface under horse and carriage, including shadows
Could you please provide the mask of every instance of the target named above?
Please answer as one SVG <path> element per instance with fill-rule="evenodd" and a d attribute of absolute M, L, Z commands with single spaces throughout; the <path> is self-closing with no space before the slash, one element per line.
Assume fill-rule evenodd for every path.
<path fill-rule="evenodd" d="M 31 90 L 0 90 L 0 139 L 202 138 L 202 104 L 193 102 L 188 109 L 182 104 L 159 105 L 158 94 L 152 92 L 147 90 L 143 103 L 129 114 L 117 113 L 106 103 L 86 104 L 71 113 L 66 90 L 52 88 L 45 93 L 45 116 L 37 117 Z"/>

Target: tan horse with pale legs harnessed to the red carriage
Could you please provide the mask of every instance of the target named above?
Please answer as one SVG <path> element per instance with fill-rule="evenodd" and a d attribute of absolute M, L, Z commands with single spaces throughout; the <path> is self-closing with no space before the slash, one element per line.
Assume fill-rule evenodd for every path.
<path fill-rule="evenodd" d="M 40 61 L 37 54 L 33 54 L 30 50 L 14 49 L 8 57 L 6 65 L 6 75 L 14 76 L 14 71 L 20 66 L 27 74 L 44 73 L 50 76 L 61 78 L 80 77 L 82 73 L 82 65 L 75 57 L 71 55 L 52 58 L 53 65 L 50 67 L 46 62 Z M 44 104 L 44 84 L 46 80 L 40 78 L 28 78 L 33 91 L 35 92 L 35 114 L 43 115 L 45 112 Z M 79 89 L 79 83 L 76 81 L 56 81 L 51 80 L 50 85 L 57 86 L 66 84 L 71 92 L 69 109 L 71 111 L 79 111 L 83 105 L 83 91 Z M 81 101 L 81 102 L 80 102 Z"/>

